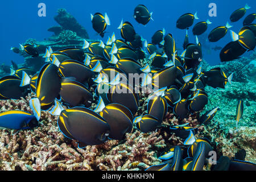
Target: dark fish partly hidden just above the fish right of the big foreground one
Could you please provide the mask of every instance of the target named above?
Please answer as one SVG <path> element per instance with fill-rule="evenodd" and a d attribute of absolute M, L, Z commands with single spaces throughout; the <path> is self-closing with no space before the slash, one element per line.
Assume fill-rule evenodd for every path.
<path fill-rule="evenodd" d="M 126 106 L 133 114 L 138 110 L 139 97 L 133 86 L 119 82 L 109 89 L 107 97 L 110 103 Z"/>

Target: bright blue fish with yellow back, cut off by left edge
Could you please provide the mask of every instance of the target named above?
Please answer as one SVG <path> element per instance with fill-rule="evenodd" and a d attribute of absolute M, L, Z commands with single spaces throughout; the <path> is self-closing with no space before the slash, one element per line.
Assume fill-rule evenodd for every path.
<path fill-rule="evenodd" d="M 14 130 L 27 130 L 38 126 L 34 115 L 22 110 L 10 110 L 0 113 L 0 127 Z"/>

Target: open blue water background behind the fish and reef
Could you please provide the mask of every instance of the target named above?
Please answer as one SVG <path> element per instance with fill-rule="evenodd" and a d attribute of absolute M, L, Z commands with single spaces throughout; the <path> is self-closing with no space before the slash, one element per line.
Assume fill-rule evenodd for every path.
<path fill-rule="evenodd" d="M 38 16 L 38 4 L 46 4 L 46 17 Z M 209 3 L 216 3 L 217 5 L 217 16 L 209 17 L 208 11 L 210 10 Z M 185 30 L 179 30 L 176 28 L 176 20 L 180 15 L 185 13 L 196 13 L 199 16 L 199 20 L 195 20 L 194 24 L 202 20 L 209 19 L 212 24 L 209 25 L 208 31 L 203 35 L 199 36 L 200 42 L 205 46 L 204 40 L 207 38 L 209 31 L 217 26 L 225 26 L 229 20 L 229 16 L 234 10 L 237 10 L 245 6 L 248 3 L 251 9 L 247 10 L 246 15 L 255 13 L 256 1 L 247 0 L 245 1 L 155 1 L 155 0 L 144 0 L 144 1 L 16 1 L 9 0 L 1 2 L 0 16 L 1 16 L 1 28 L 0 28 L 0 50 L 1 60 L 0 63 L 10 64 L 11 60 L 16 63 L 23 63 L 23 57 L 15 54 L 10 48 L 18 47 L 19 43 L 24 43 L 29 38 L 36 40 L 44 40 L 52 35 L 52 32 L 48 32 L 47 29 L 51 26 L 58 25 L 53 17 L 57 15 L 57 9 L 64 8 L 71 13 L 77 21 L 82 24 L 88 31 L 90 39 L 99 39 L 100 36 L 96 35 L 96 32 L 92 28 L 90 21 L 90 13 L 94 14 L 100 12 L 104 14 L 108 13 L 111 26 L 108 26 L 107 30 L 109 34 L 106 34 L 104 40 L 115 32 L 117 38 L 121 38 L 117 27 L 121 22 L 121 19 L 127 20 L 133 24 L 135 31 L 141 35 L 148 42 L 151 41 L 151 36 L 157 30 L 166 29 L 167 33 L 174 35 L 178 48 L 182 48 Z M 133 18 L 135 6 L 143 4 L 150 12 L 153 12 L 152 18 L 154 21 L 150 21 L 146 26 L 138 24 Z M 245 16 L 246 16 L 245 15 Z M 242 21 L 245 16 L 238 22 L 232 23 L 233 27 L 231 30 L 238 32 L 242 27 Z M 229 21 L 230 22 L 230 21 Z M 189 42 L 195 42 L 195 36 L 192 34 L 192 28 L 189 30 Z M 206 45 L 210 47 L 220 46 L 224 47 L 225 44 L 230 42 L 229 32 L 225 38 L 221 39 L 217 43 L 208 43 Z M 210 54 L 207 54 L 210 53 Z M 219 58 L 220 51 L 211 50 L 210 52 L 204 49 L 204 59 L 211 65 L 220 63 Z M 249 53 L 245 53 L 243 56 L 248 56 Z"/>

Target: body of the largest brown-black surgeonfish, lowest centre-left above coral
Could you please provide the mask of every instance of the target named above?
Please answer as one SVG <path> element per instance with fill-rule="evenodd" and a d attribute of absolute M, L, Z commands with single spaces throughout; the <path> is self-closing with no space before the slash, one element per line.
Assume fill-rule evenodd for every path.
<path fill-rule="evenodd" d="M 79 148 L 106 142 L 109 124 L 99 114 L 85 107 L 73 107 L 61 111 L 58 126 L 70 139 L 79 140 Z"/>

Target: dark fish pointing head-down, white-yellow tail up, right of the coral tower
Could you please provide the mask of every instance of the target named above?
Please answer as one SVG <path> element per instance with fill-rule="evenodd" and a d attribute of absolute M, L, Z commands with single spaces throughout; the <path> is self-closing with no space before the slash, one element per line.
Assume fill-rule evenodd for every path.
<path fill-rule="evenodd" d="M 92 20 L 93 29 L 103 38 L 107 25 L 110 25 L 108 15 L 105 13 L 105 17 L 101 13 L 94 15 L 90 14 Z"/>

